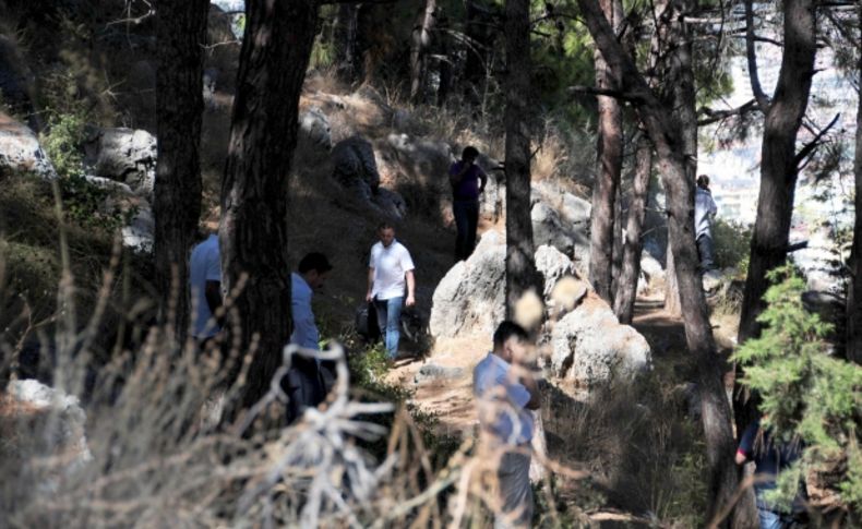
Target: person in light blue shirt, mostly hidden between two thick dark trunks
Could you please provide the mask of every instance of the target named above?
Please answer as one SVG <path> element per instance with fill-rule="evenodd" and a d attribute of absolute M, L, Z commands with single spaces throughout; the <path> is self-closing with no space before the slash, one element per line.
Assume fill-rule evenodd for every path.
<path fill-rule="evenodd" d="M 194 308 L 192 336 L 204 349 L 206 342 L 222 330 L 220 322 L 215 316 L 222 306 L 222 257 L 217 233 L 209 233 L 192 250 L 189 287 Z"/>

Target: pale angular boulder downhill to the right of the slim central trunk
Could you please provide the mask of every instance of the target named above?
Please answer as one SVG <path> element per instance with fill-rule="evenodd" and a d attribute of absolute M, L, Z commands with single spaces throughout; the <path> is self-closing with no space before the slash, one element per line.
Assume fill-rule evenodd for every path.
<path fill-rule="evenodd" d="M 630 381 L 650 368 L 646 339 L 620 325 L 608 303 L 588 294 L 556 322 L 551 335 L 554 373 L 587 388 Z"/>

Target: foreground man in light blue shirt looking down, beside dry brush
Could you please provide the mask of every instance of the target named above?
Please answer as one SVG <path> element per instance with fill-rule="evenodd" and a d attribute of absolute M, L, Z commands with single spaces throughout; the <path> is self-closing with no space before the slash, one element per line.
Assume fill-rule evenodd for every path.
<path fill-rule="evenodd" d="M 501 513 L 495 528 L 529 527 L 532 518 L 530 489 L 530 410 L 539 409 L 541 396 L 528 371 L 528 337 L 523 327 L 503 322 L 494 332 L 494 350 L 474 370 L 474 394 L 479 423 L 490 447 L 503 456 L 496 469 Z"/>

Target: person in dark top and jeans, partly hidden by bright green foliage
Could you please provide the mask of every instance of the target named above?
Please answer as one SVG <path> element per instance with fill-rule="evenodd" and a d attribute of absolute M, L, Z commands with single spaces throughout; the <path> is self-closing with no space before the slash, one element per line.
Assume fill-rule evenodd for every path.
<path fill-rule="evenodd" d="M 797 516 L 804 512 L 804 484 L 793 500 L 790 512 L 785 512 L 767 500 L 767 493 L 776 489 L 778 473 L 790 467 L 802 455 L 802 446 L 797 443 L 781 443 L 773 437 L 768 430 L 754 421 L 745 429 L 737 450 L 737 465 L 754 461 L 754 493 L 757 498 L 757 515 L 761 529 L 785 529 Z"/>

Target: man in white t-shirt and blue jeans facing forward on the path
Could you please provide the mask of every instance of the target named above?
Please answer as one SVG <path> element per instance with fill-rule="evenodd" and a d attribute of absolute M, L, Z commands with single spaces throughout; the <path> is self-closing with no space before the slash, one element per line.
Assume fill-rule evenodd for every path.
<path fill-rule="evenodd" d="M 366 301 L 374 301 L 386 354 L 395 360 L 400 339 L 402 306 L 416 304 L 415 266 L 410 252 L 395 240 L 395 228 L 390 224 L 380 225 L 378 237 L 380 242 L 371 247 L 371 259 L 368 263 Z M 405 285 L 407 299 L 404 298 Z"/>

